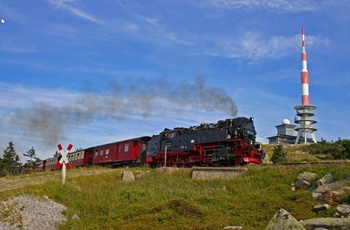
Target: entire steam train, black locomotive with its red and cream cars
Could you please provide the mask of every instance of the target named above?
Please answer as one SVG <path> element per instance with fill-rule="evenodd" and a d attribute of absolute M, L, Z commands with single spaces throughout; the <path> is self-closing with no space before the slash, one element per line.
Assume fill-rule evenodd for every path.
<path fill-rule="evenodd" d="M 113 142 L 71 152 L 72 167 L 140 165 L 192 167 L 261 163 L 265 156 L 255 143 L 253 118 L 238 117 L 190 128 L 165 129 L 152 137 Z M 59 158 L 49 158 L 40 170 L 55 170 Z"/>

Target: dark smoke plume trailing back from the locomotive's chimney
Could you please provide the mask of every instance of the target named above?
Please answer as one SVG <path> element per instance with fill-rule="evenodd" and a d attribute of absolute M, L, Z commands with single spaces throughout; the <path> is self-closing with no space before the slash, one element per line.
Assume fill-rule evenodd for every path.
<path fill-rule="evenodd" d="M 162 79 L 138 79 L 126 84 L 112 81 L 107 93 L 85 93 L 75 101 L 67 102 L 66 106 L 55 107 L 41 102 L 30 110 L 19 109 L 11 122 L 19 125 L 24 133 L 39 136 L 45 144 L 52 146 L 65 137 L 69 128 L 88 124 L 95 118 L 147 118 L 159 114 L 181 114 L 188 109 L 237 116 L 234 101 L 222 89 L 206 86 L 203 78 L 183 84 Z"/>

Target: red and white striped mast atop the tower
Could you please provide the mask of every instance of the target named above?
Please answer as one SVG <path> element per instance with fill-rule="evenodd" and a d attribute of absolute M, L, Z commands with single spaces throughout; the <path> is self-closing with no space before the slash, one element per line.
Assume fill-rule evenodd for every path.
<path fill-rule="evenodd" d="M 302 105 L 309 105 L 310 99 L 309 99 L 309 73 L 307 71 L 307 62 L 306 62 L 306 52 L 305 52 L 305 35 L 304 35 L 304 28 L 301 28 L 301 35 L 302 35 L 302 52 L 301 52 L 301 104 Z"/>

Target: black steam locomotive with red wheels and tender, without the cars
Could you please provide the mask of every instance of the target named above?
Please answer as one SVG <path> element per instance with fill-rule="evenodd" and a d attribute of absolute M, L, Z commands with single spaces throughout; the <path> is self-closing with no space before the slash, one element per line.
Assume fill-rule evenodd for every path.
<path fill-rule="evenodd" d="M 255 143 L 253 120 L 237 117 L 190 128 L 165 129 L 148 142 L 147 162 L 154 167 L 261 163 L 265 153 Z"/>

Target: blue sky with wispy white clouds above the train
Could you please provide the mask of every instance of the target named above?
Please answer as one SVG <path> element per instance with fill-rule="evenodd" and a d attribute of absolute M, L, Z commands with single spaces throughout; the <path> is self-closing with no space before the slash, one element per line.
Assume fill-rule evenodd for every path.
<path fill-rule="evenodd" d="M 0 150 L 85 148 L 232 116 L 258 141 L 301 104 L 349 139 L 347 0 L 0 1 Z M 237 109 L 237 110 L 236 110 Z"/>

